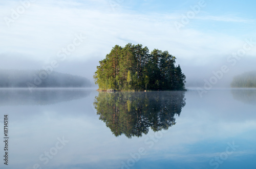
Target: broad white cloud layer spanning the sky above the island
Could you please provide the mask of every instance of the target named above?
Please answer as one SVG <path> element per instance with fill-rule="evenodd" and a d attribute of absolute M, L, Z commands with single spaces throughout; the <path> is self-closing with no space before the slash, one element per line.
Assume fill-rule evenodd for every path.
<path fill-rule="evenodd" d="M 0 16 L 9 16 L 19 5 L 7 2 L 0 6 Z M 122 4 L 120 5 L 122 6 Z M 7 27 L 2 19 L 0 51 L 22 53 L 33 59 L 48 61 L 70 44 L 75 34 L 87 36 L 69 60 L 103 58 L 119 44 L 140 43 L 150 50 L 168 50 L 178 60 L 204 64 L 241 48 L 244 39 L 236 35 L 203 33 L 189 27 L 178 33 L 174 22 L 177 14 L 139 14 L 127 10 L 113 11 L 109 1 L 36 1 L 24 14 Z M 211 20 L 244 22 L 247 19 L 221 16 L 201 17 Z M 250 38 L 250 37 L 248 37 Z"/>

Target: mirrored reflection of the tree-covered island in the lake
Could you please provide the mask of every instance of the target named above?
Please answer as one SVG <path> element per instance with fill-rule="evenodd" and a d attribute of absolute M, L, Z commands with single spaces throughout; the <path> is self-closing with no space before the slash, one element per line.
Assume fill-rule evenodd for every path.
<path fill-rule="evenodd" d="M 185 92 L 100 92 L 94 106 L 99 119 L 115 136 L 142 136 L 175 125 L 175 115 L 185 106 Z"/>

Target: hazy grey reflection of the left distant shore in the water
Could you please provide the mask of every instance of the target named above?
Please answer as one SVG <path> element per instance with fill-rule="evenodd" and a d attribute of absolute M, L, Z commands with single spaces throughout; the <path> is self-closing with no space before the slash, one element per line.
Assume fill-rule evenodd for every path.
<path fill-rule="evenodd" d="M 81 99 L 90 95 L 91 90 L 80 88 L 39 88 L 0 89 L 0 106 L 49 105 Z"/>

